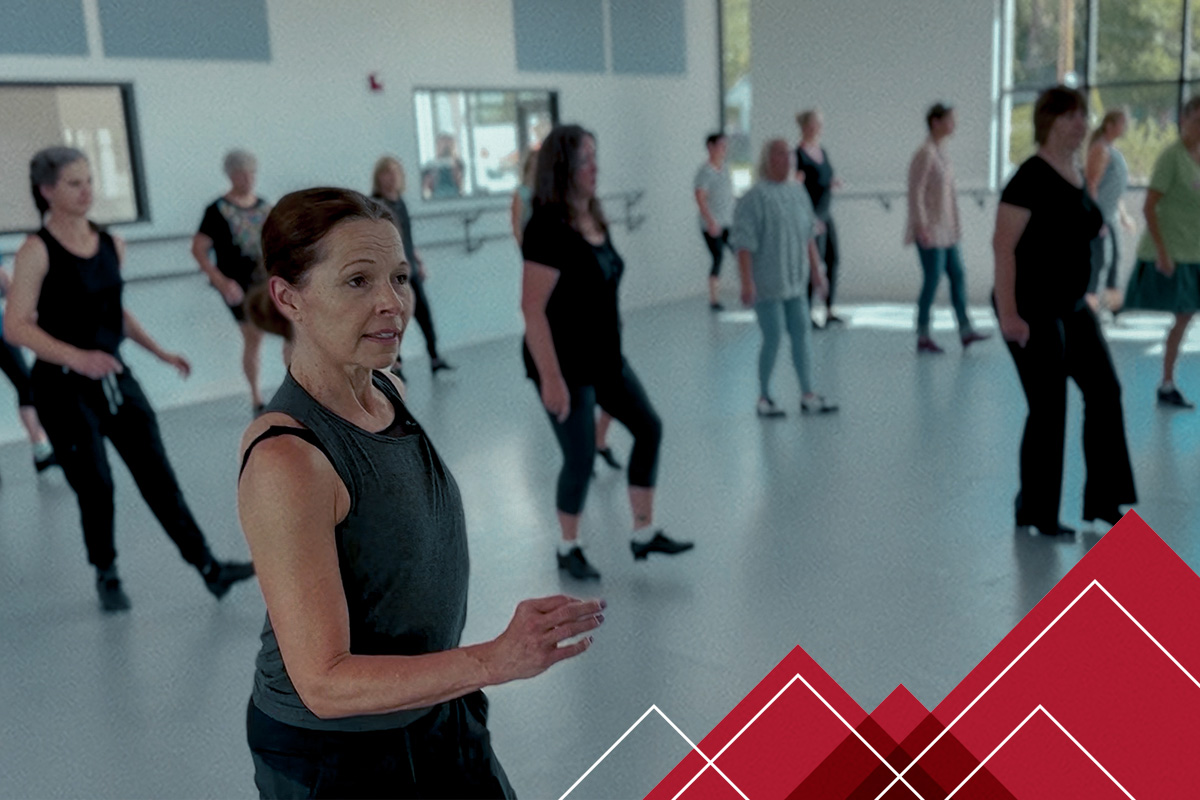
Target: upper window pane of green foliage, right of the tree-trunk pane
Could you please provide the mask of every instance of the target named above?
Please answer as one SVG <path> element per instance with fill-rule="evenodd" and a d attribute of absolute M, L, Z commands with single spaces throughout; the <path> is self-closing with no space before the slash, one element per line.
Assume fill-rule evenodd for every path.
<path fill-rule="evenodd" d="M 1090 83 L 1175 80 L 1183 0 L 1098 0 L 1096 74 Z"/>

